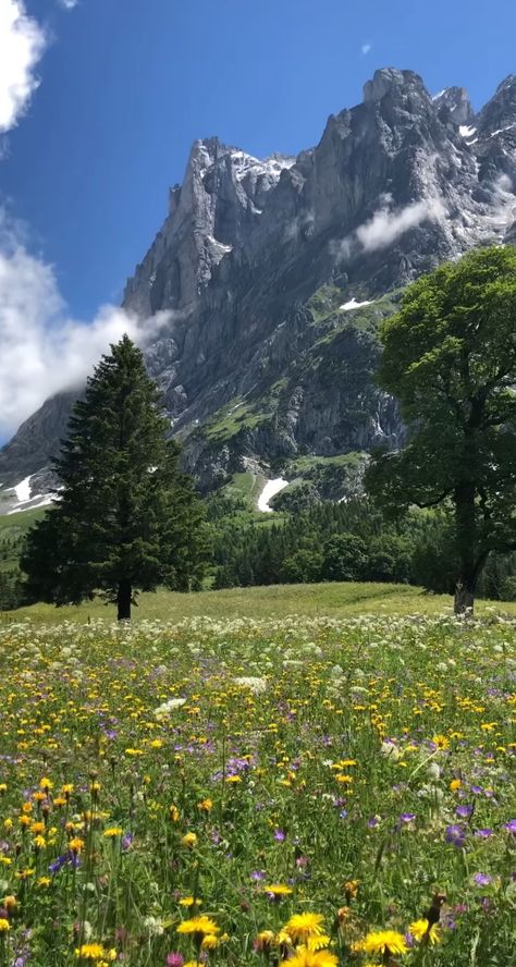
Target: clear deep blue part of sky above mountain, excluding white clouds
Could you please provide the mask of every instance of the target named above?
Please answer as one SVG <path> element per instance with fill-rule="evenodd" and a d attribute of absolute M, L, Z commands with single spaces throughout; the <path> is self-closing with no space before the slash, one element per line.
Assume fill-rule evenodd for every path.
<path fill-rule="evenodd" d="M 476 106 L 516 70 L 516 3 L 494 0 L 27 0 L 53 39 L 9 135 L 0 192 L 72 311 L 118 302 L 196 137 L 259 156 L 315 144 L 378 66 Z M 370 45 L 363 53 L 364 45 Z"/>

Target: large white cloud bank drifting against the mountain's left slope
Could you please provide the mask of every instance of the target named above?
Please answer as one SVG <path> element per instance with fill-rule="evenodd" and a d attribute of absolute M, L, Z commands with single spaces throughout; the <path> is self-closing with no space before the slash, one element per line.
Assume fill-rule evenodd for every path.
<path fill-rule="evenodd" d="M 52 267 L 27 252 L 0 211 L 0 432 L 53 393 L 79 388 L 124 332 L 146 345 L 169 321 L 167 313 L 138 320 L 111 305 L 89 322 L 71 318 Z"/>

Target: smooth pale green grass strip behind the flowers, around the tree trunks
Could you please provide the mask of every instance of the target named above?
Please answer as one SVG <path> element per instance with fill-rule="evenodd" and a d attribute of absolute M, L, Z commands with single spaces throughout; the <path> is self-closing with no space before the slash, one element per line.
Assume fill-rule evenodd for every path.
<path fill-rule="evenodd" d="M 271 515 L 272 516 L 272 515 Z M 140 595 L 134 609 L 136 623 L 146 620 L 180 622 L 185 619 L 249 617 L 282 619 L 288 614 L 306 616 L 348 617 L 359 614 L 451 613 L 452 599 L 444 595 L 426 595 L 409 585 L 328 583 L 312 585 L 272 585 L 271 587 L 231 588 L 181 595 L 160 590 Z M 478 602 L 479 614 L 516 615 L 516 602 Z M 85 622 L 88 619 L 114 620 L 115 609 L 96 600 L 66 608 L 35 604 L 4 612 L 2 622 L 29 619 L 37 623 L 62 621 Z"/>

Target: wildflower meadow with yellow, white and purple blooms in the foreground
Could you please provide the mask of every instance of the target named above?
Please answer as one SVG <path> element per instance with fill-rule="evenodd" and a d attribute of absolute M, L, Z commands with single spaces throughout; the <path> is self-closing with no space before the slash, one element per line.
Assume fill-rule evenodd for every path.
<path fill-rule="evenodd" d="M 0 637 L 0 967 L 516 963 L 514 621 Z"/>

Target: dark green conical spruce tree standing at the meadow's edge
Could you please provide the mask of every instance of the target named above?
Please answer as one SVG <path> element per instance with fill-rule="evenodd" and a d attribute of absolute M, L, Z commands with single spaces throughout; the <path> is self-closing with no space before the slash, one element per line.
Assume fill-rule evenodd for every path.
<path fill-rule="evenodd" d="M 158 388 L 124 336 L 75 404 L 54 462 L 59 500 L 27 535 L 21 565 L 30 600 L 100 595 L 125 620 L 139 590 L 199 586 L 202 506 L 167 429 Z"/>

